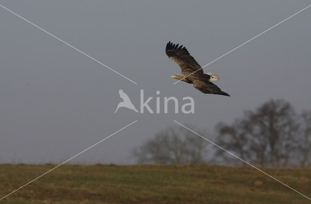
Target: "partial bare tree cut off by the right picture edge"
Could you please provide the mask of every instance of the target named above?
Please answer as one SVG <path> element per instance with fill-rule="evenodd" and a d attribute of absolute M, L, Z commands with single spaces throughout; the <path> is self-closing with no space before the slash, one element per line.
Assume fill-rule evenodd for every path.
<path fill-rule="evenodd" d="M 311 164 L 311 111 L 303 111 L 302 118 L 302 137 L 300 140 L 301 166 Z"/>

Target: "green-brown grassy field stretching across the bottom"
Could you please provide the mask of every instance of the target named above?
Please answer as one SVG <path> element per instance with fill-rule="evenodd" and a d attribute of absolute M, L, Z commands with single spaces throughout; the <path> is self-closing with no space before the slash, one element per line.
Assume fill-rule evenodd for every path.
<path fill-rule="evenodd" d="M 0 197 L 56 165 L 0 165 Z M 311 169 L 264 169 L 311 197 Z M 0 203 L 305 204 L 310 200 L 250 167 L 64 165 Z"/>

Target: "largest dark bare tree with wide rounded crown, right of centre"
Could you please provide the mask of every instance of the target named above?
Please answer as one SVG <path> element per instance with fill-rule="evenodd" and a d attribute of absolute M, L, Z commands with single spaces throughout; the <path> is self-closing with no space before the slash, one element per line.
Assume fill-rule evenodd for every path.
<path fill-rule="evenodd" d="M 216 130 L 219 144 L 261 166 L 288 166 L 298 147 L 299 123 L 294 108 L 284 100 L 270 100 L 256 111 L 245 111 L 242 119 L 231 126 L 220 124 Z"/>

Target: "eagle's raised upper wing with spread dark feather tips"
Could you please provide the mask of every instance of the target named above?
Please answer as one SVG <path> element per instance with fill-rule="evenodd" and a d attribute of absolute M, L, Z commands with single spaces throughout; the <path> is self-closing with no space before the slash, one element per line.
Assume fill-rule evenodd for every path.
<path fill-rule="evenodd" d="M 203 74 L 203 69 L 201 69 L 199 63 L 197 63 L 197 61 L 195 61 L 195 59 L 190 56 L 186 47 L 183 47 L 182 45 L 178 47 L 178 44 L 175 45 L 170 41 L 166 45 L 165 53 L 171 60 L 179 65 L 182 72 L 185 70 L 188 72 L 195 72 L 199 70 L 196 73 Z"/>

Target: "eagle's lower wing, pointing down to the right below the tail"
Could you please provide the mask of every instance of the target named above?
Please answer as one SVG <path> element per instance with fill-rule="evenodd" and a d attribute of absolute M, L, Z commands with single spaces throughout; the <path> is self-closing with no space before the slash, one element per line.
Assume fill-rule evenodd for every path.
<path fill-rule="evenodd" d="M 200 79 L 193 79 L 192 83 L 193 87 L 202 93 L 230 96 L 228 93 L 223 92 L 218 86 L 216 86 L 212 82 Z"/>

